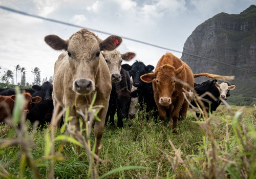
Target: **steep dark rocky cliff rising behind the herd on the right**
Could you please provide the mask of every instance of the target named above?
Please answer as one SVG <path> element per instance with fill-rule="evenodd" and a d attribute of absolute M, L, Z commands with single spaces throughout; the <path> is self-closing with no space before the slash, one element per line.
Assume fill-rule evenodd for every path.
<path fill-rule="evenodd" d="M 242 97 L 241 105 L 245 98 L 251 98 L 249 105 L 256 102 L 256 73 L 186 54 L 256 71 L 256 6 L 240 14 L 220 13 L 206 20 L 187 38 L 181 57 L 194 74 L 234 75 L 231 83 L 237 88 L 230 92 L 231 96 Z M 199 77 L 195 82 L 205 80 Z"/>

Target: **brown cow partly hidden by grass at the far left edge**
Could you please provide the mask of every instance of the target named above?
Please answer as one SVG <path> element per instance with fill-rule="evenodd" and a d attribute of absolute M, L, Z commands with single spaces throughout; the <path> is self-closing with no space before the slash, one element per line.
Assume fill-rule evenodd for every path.
<path fill-rule="evenodd" d="M 26 105 L 23 106 L 23 111 L 29 114 L 32 103 L 39 103 L 41 101 L 41 98 L 39 96 L 32 97 L 30 93 L 24 93 L 23 95 L 26 99 Z M 8 116 L 8 113 L 3 103 L 7 104 L 9 113 L 12 113 L 15 97 L 16 95 L 0 96 L 0 122 L 3 122 L 4 119 Z"/>

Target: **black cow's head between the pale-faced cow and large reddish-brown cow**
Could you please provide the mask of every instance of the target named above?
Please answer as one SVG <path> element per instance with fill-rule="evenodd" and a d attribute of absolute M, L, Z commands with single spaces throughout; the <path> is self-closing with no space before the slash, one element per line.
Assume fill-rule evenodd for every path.
<path fill-rule="evenodd" d="M 132 66 L 129 64 L 123 64 L 122 68 L 129 72 L 130 76 L 133 78 L 133 85 L 135 87 L 140 87 L 143 85 L 140 76 L 144 74 L 151 73 L 155 67 L 153 65 L 145 65 L 141 61 L 135 61 Z"/>

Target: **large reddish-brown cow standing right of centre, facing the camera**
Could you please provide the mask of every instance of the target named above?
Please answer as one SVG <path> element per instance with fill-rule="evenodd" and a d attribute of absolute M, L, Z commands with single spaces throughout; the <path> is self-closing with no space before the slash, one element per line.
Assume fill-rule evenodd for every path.
<path fill-rule="evenodd" d="M 178 118 L 186 118 L 189 107 L 182 94 L 182 88 L 189 91 L 189 87 L 176 82 L 176 79 L 194 87 L 194 77 L 191 69 L 178 57 L 166 53 L 158 61 L 154 73 L 142 75 L 140 78 L 144 82 L 153 82 L 154 98 L 159 118 L 161 120 L 166 117 L 173 119 L 173 130 L 176 132 Z"/>

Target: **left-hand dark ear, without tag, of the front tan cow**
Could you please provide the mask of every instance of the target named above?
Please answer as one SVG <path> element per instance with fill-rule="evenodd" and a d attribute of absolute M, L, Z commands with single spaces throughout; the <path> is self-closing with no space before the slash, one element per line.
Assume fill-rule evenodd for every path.
<path fill-rule="evenodd" d="M 57 35 L 45 36 L 45 42 L 54 50 L 68 50 L 68 44 L 66 40 L 63 40 Z"/>

